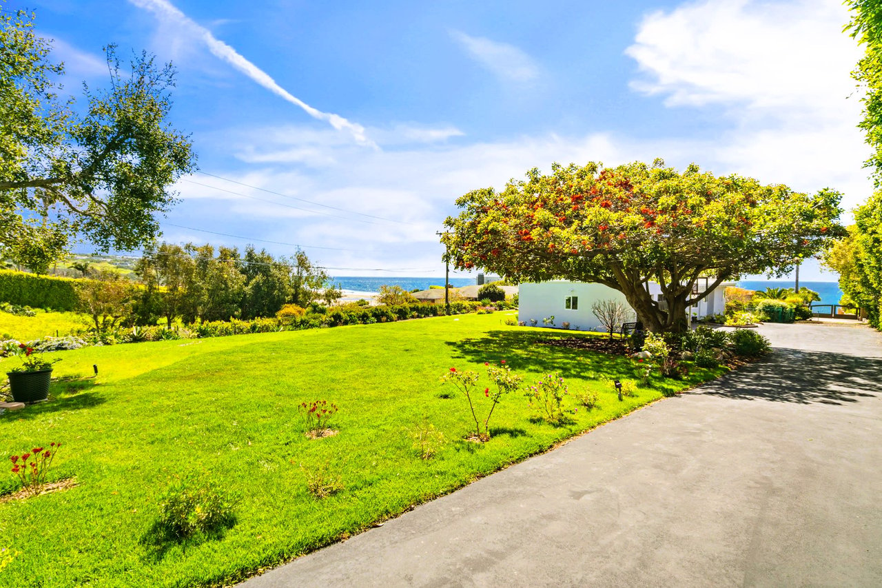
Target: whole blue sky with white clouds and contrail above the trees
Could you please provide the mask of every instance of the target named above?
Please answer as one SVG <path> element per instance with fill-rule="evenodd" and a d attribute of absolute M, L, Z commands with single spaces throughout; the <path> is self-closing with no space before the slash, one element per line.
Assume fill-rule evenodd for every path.
<path fill-rule="evenodd" d="M 211 175 L 176 186 L 171 242 L 443 275 L 435 231 L 453 200 L 555 161 L 698 162 L 832 186 L 848 209 L 871 191 L 839 0 L 6 7 L 37 12 L 68 88 L 106 83 L 108 43 L 176 65 L 173 124 Z M 802 277 L 835 276 L 809 262 Z"/>

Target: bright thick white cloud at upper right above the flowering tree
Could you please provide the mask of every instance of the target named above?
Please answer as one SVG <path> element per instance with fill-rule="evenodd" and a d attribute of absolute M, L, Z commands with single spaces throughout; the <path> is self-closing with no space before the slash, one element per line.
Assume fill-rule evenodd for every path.
<path fill-rule="evenodd" d="M 862 50 L 842 33 L 847 20 L 839 0 L 708 0 L 654 12 L 625 51 L 642 72 L 632 87 L 670 107 L 722 107 L 731 128 L 696 151 L 705 167 L 803 191 L 829 185 L 854 207 L 871 183 L 850 78 Z"/>

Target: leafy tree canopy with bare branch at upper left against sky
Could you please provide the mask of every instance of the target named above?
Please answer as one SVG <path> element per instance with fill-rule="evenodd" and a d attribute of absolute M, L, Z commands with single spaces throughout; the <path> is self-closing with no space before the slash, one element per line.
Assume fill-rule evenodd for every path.
<path fill-rule="evenodd" d="M 64 66 L 50 50 L 33 14 L 0 13 L 0 251 L 38 270 L 71 238 L 103 251 L 150 242 L 175 202 L 168 186 L 196 160 L 167 122 L 171 64 L 142 53 L 125 71 L 108 47 L 110 87 L 84 84 L 78 113 L 57 94 Z"/>

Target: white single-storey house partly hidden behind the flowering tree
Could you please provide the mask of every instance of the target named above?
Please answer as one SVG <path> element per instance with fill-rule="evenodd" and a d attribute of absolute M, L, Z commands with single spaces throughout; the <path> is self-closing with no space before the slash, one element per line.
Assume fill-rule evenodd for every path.
<path fill-rule="evenodd" d="M 700 279 L 699 288 L 706 284 Z M 687 313 L 695 317 L 705 317 L 722 313 L 726 307 L 725 290 L 734 286 L 734 282 L 721 283 L 714 291 L 692 306 Z M 662 288 L 654 282 L 649 283 L 649 294 L 656 300 L 662 300 Z M 561 327 L 564 322 L 570 323 L 573 330 L 591 331 L 604 330 L 600 320 L 591 311 L 591 305 L 600 300 L 618 300 L 624 305 L 628 301 L 624 294 L 613 290 L 602 283 L 567 282 L 552 280 L 542 283 L 522 283 L 519 288 L 518 320 L 537 327 L 551 327 L 549 319 L 554 317 L 554 326 Z M 630 308 L 630 305 L 628 305 Z M 633 313 L 628 321 L 636 320 Z"/>

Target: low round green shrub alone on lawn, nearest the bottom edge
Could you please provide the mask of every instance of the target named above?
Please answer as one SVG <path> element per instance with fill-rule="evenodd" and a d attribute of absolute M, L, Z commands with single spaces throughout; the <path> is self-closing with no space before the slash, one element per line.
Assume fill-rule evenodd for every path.
<path fill-rule="evenodd" d="M 182 481 L 170 486 L 159 500 L 160 514 L 153 530 L 161 539 L 187 539 L 235 524 L 238 499 L 211 482 L 193 486 Z"/>

